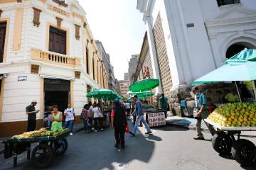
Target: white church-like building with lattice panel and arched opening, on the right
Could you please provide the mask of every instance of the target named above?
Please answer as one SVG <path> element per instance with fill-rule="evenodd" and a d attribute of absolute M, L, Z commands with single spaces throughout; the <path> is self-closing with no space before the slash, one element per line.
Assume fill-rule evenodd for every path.
<path fill-rule="evenodd" d="M 158 91 L 171 98 L 226 58 L 256 48 L 255 0 L 138 0 L 137 9 Z"/>

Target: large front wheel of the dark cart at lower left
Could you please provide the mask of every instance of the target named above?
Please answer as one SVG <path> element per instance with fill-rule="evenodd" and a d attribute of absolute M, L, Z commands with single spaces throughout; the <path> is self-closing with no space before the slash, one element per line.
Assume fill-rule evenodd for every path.
<path fill-rule="evenodd" d="M 33 149 L 32 162 L 38 168 L 46 168 L 53 159 L 53 149 L 46 144 L 39 144 Z"/>

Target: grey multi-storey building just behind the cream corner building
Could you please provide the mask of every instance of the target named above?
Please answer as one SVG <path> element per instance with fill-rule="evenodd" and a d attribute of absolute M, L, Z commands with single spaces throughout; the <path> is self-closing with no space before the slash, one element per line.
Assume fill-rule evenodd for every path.
<path fill-rule="evenodd" d="M 107 54 L 100 40 L 95 40 L 95 43 L 97 45 L 97 49 L 100 52 L 100 55 L 102 56 L 102 64 L 104 64 L 105 68 L 107 69 L 107 73 L 109 76 L 109 81 L 107 83 L 108 83 L 109 89 L 113 91 L 117 91 L 117 87 L 115 86 L 114 67 L 112 67 L 112 64 L 110 62 L 110 55 Z"/>

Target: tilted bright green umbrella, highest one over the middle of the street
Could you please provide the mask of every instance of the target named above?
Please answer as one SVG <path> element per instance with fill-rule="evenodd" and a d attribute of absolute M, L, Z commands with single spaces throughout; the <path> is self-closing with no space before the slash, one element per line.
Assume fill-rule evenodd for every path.
<path fill-rule="evenodd" d="M 129 86 L 129 91 L 141 92 L 149 91 L 159 86 L 159 79 L 143 79 L 136 81 L 134 84 Z"/>

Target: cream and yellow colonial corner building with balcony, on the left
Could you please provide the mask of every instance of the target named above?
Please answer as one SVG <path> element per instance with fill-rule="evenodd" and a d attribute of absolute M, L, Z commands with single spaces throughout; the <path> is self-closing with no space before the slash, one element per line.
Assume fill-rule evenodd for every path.
<path fill-rule="evenodd" d="M 0 1 L 0 135 L 26 130 L 32 100 L 40 127 L 48 106 L 79 115 L 87 91 L 108 88 L 85 14 L 75 0 Z"/>

